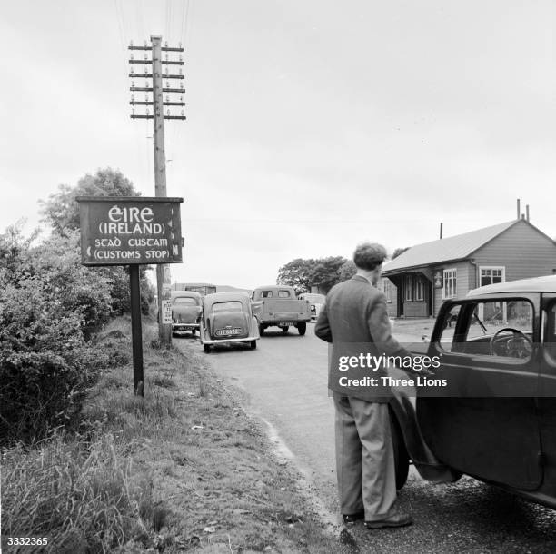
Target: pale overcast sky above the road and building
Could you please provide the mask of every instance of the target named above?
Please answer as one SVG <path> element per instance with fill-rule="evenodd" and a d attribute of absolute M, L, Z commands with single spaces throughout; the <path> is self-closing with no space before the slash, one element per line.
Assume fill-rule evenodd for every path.
<path fill-rule="evenodd" d="M 127 45 L 183 43 L 165 122 L 173 282 L 253 288 L 295 258 L 389 252 L 516 217 L 556 237 L 555 7 L 536 0 L 18 0 L 0 32 L 0 232 L 120 169 L 154 195 Z M 45 224 L 42 224 L 45 228 Z"/>

